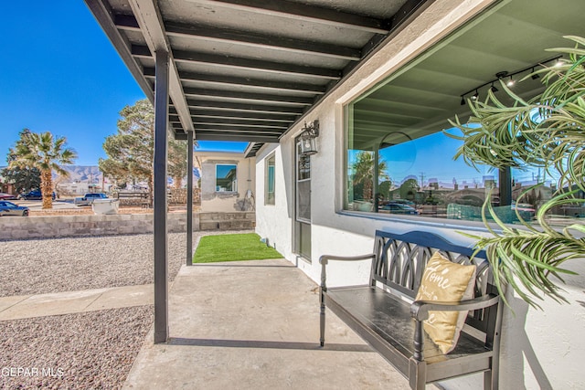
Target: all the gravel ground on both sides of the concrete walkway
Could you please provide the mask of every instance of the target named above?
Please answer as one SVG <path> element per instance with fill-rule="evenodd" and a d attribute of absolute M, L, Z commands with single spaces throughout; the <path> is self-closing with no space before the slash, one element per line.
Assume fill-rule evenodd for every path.
<path fill-rule="evenodd" d="M 194 246 L 234 233 L 250 231 Z M 169 280 L 185 256 L 169 234 Z M 0 297 L 153 282 L 152 234 L 0 241 Z M 0 321 L 0 388 L 122 388 L 153 321 L 153 306 Z"/>

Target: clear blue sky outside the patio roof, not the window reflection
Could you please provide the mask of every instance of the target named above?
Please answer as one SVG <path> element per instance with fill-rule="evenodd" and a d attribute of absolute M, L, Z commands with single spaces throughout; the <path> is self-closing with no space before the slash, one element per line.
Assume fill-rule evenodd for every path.
<path fill-rule="evenodd" d="M 24 128 L 65 136 L 76 164 L 96 165 L 118 112 L 144 93 L 83 1 L 0 9 L 0 166 Z M 241 152 L 246 144 L 201 142 L 200 150 Z"/>

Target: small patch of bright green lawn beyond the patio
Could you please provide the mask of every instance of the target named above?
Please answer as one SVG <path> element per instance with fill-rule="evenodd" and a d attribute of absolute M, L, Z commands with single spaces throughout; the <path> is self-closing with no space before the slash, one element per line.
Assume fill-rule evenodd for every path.
<path fill-rule="evenodd" d="M 194 263 L 282 258 L 274 248 L 260 242 L 256 233 L 205 236 L 199 240 Z"/>

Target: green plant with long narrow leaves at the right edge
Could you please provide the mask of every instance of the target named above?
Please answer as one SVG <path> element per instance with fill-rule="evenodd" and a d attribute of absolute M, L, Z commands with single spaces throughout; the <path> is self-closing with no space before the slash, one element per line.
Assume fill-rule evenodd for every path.
<path fill-rule="evenodd" d="M 560 66 L 543 67 L 525 78 L 541 76 L 546 87 L 542 93 L 523 100 L 502 83 L 514 101 L 512 106 L 503 104 L 490 91 L 485 101 L 469 100 L 473 116 L 468 123 L 480 127 L 462 124 L 457 118 L 452 121 L 463 132 L 462 137 L 455 137 L 463 140 L 456 157 L 463 156 L 466 163 L 497 168 L 529 165 L 559 174 L 557 194 L 537 212 L 540 228 L 526 222 L 525 229 L 507 227 L 486 202 L 484 223 L 492 236 L 471 236 L 478 239 L 477 248 L 485 248 L 492 259 L 498 289 L 502 291 L 508 284 L 536 307 L 535 299 L 542 300 L 543 294 L 565 300 L 558 282 L 562 282 L 563 274 L 573 272 L 560 266 L 585 256 L 584 223 L 575 222 L 558 230 L 545 218 L 553 207 L 585 204 L 585 199 L 575 196 L 585 192 L 585 39 L 567 38 L 576 46 L 550 49 L 565 55 Z M 535 111 L 539 113 L 537 120 Z M 501 233 L 487 225 L 486 210 Z"/>

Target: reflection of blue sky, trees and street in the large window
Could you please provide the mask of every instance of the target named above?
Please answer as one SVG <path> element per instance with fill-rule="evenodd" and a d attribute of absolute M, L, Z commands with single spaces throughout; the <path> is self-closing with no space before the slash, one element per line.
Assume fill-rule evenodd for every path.
<path fill-rule="evenodd" d="M 462 141 L 448 134 L 460 134 L 459 129 L 380 130 L 370 125 L 367 100 L 347 111 L 351 115 L 346 130 L 346 210 L 482 221 L 482 206 L 489 197 L 502 221 L 519 224 L 519 217 L 534 221 L 538 208 L 556 190 L 558 177 L 542 168 L 499 172 L 490 166 L 473 168 L 462 158 L 453 160 Z M 367 120 L 362 111 L 369 115 Z M 585 216 L 580 205 L 551 210 L 549 223 L 562 226 L 569 223 L 568 217 Z"/>

